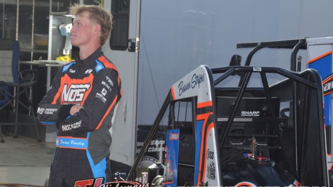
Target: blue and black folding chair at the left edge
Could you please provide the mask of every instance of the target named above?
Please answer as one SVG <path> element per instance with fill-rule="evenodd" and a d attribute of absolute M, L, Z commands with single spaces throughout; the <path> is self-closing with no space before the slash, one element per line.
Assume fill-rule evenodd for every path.
<path fill-rule="evenodd" d="M 28 95 L 28 89 L 30 88 L 30 86 L 37 83 L 38 72 L 34 69 L 19 72 L 19 55 L 20 46 L 18 41 L 11 39 L 0 39 L 0 95 L 2 95 L 1 98 L 3 98 L 2 100 L 0 100 L 0 110 L 10 106 L 12 107 L 13 111 L 15 111 L 15 122 L 0 122 L 1 143 L 4 143 L 1 131 L 2 125 L 14 125 L 14 137 L 17 137 L 18 125 L 35 125 L 37 141 L 41 141 L 38 133 L 38 123 L 35 117 L 35 112 Z M 11 92 L 11 90 L 14 91 Z M 25 96 L 27 97 L 26 101 L 28 101 L 28 105 L 19 100 L 19 97 L 22 94 L 25 94 Z M 29 114 L 32 114 L 33 123 L 19 122 L 19 105 L 26 108 L 29 111 Z"/>

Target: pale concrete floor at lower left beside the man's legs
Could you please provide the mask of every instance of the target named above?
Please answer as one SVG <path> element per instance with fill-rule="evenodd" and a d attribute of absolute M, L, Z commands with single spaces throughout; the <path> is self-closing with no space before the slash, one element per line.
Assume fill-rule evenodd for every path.
<path fill-rule="evenodd" d="M 4 136 L 4 141 L 0 143 L 0 187 L 43 187 L 55 143 L 37 143 L 24 136 Z"/>

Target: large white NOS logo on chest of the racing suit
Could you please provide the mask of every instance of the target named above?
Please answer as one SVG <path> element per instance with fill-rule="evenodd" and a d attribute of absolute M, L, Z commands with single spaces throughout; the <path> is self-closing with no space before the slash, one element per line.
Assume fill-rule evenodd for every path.
<path fill-rule="evenodd" d="M 62 102 L 75 102 L 83 101 L 85 92 L 90 88 L 90 84 L 65 84 L 62 89 Z"/>

